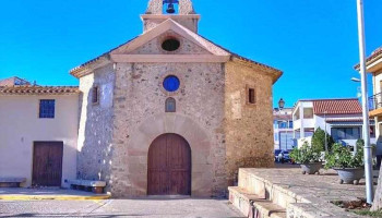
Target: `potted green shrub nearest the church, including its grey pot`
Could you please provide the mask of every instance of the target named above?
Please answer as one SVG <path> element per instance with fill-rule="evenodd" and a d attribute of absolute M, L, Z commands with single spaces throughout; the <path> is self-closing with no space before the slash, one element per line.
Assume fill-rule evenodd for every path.
<path fill-rule="evenodd" d="M 306 142 L 301 148 L 295 147 L 290 153 L 290 157 L 300 164 L 302 174 L 320 174 L 320 169 L 322 168 L 321 149 L 309 146 Z"/>

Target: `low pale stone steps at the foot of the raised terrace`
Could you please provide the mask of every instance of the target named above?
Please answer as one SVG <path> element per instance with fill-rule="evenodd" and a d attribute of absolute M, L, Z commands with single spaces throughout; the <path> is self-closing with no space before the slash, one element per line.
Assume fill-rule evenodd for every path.
<path fill-rule="evenodd" d="M 251 194 L 248 190 L 231 186 L 229 190 L 229 202 L 238 208 L 244 216 L 249 217 L 251 213 L 251 203 L 262 218 L 286 218 L 286 209 L 272 203 L 271 201 Z"/>

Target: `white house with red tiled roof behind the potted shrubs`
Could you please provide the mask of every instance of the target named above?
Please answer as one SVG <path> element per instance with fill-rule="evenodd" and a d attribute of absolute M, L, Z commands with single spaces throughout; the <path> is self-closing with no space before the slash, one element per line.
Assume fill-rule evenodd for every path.
<path fill-rule="evenodd" d="M 319 128 L 326 130 L 335 142 L 354 146 L 362 138 L 362 108 L 357 98 L 299 100 L 293 112 L 295 138 L 310 141 Z M 370 134 L 375 142 L 374 122 Z"/>

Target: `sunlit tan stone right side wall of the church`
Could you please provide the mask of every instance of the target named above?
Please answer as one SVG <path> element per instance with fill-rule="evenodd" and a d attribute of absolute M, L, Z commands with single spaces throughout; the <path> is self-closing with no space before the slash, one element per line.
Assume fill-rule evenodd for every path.
<path fill-rule="evenodd" d="M 230 61 L 226 64 L 225 116 L 228 183 L 237 181 L 239 168 L 272 167 L 272 77 L 262 69 Z M 255 104 L 248 104 L 248 88 L 255 89 Z"/>

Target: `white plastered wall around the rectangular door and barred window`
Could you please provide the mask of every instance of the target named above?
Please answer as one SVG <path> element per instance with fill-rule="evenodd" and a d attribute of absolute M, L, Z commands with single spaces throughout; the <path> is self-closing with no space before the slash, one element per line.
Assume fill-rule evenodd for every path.
<path fill-rule="evenodd" d="M 55 119 L 39 119 L 39 99 L 56 99 Z M 79 95 L 0 96 L 0 177 L 32 183 L 33 143 L 63 142 L 62 185 L 76 177 Z"/>

